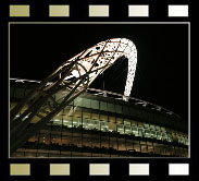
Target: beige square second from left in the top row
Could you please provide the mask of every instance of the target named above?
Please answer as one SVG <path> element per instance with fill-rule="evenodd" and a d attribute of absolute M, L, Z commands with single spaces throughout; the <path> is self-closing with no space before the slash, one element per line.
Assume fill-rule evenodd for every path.
<path fill-rule="evenodd" d="M 49 5 L 49 16 L 69 17 L 70 16 L 70 5 Z"/>

